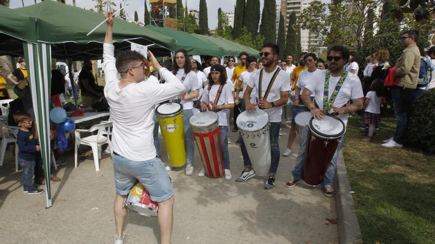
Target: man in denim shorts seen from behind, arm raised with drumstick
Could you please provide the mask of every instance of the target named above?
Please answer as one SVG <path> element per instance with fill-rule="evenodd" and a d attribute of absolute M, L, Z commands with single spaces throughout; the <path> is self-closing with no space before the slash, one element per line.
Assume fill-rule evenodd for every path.
<path fill-rule="evenodd" d="M 150 51 L 148 56 L 166 80 L 165 84 L 143 81 L 149 71 L 148 62 L 140 53 L 124 51 L 115 59 L 112 15 L 112 12 L 107 12 L 104 16 L 108 19 L 103 45 L 103 70 L 106 81 L 104 96 L 113 119 L 111 146 L 116 189 L 113 205 L 116 226 L 114 243 L 124 242 L 123 225 L 127 209 L 123 208 L 123 204 L 138 179 L 146 187 L 151 200 L 159 205 L 161 243 L 170 244 L 174 192 L 162 161 L 156 157 L 152 136 L 153 114 L 156 104 L 180 94 L 184 86 L 169 70 L 159 65 Z"/>

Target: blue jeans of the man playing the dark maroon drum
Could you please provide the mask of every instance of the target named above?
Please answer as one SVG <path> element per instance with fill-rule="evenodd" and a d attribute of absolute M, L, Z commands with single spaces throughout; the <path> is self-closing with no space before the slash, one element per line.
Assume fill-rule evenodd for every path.
<path fill-rule="evenodd" d="M 296 180 L 300 180 L 303 174 L 307 134 L 308 134 L 308 125 L 305 125 L 304 129 L 302 130 L 301 141 L 299 143 L 299 152 L 298 152 L 298 157 L 296 158 L 295 169 L 292 171 L 293 178 L 295 178 Z M 337 168 L 338 155 L 340 154 L 340 150 L 342 149 L 344 143 L 345 143 L 345 138 L 343 137 L 340 140 L 340 144 L 338 145 L 337 150 L 335 151 L 334 157 L 332 158 L 331 163 L 329 164 L 325 175 L 323 176 L 323 181 L 321 183 L 322 187 L 326 185 L 332 185 L 332 178 L 334 178 L 335 169 Z"/>

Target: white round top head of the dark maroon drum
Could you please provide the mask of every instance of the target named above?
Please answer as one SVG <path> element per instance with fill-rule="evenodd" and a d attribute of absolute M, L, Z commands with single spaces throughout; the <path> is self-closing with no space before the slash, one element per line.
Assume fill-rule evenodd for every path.
<path fill-rule="evenodd" d="M 346 132 L 345 123 L 332 115 L 327 115 L 321 120 L 312 117 L 308 126 L 314 134 L 322 138 L 339 138 Z"/>

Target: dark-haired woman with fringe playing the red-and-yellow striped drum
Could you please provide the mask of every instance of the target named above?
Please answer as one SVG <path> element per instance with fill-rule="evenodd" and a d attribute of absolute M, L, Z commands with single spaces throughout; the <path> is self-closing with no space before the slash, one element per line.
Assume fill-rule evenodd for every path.
<path fill-rule="evenodd" d="M 225 68 L 221 65 L 212 66 L 209 74 L 209 84 L 204 87 L 204 93 L 201 98 L 201 108 L 217 113 L 219 124 L 220 147 L 222 149 L 223 169 L 225 179 L 232 178 L 229 170 L 229 153 L 228 153 L 228 119 L 227 109 L 234 107 L 234 99 L 231 88 L 226 83 Z M 210 87 L 210 89 L 209 89 Z M 220 90 L 220 91 L 219 91 Z M 220 93 L 220 96 L 218 95 Z M 204 176 L 204 168 L 198 173 L 199 177 Z"/>

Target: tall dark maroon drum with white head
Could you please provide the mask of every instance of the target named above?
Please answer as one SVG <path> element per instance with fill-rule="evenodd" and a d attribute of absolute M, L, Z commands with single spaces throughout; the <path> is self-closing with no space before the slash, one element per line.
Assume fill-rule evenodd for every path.
<path fill-rule="evenodd" d="M 346 133 L 346 126 L 341 119 L 327 115 L 321 120 L 312 117 L 308 128 L 303 179 L 306 184 L 316 186 L 322 182 L 340 140 Z"/>

